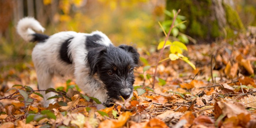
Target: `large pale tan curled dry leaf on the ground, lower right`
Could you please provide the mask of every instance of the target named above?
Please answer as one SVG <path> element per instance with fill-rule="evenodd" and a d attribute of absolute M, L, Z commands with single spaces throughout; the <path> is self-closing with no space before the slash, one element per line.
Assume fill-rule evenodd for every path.
<path fill-rule="evenodd" d="M 249 114 L 249 112 L 244 108 L 241 102 L 221 102 L 218 101 L 219 107 L 222 109 L 222 113 L 227 115 L 228 118 L 232 116 L 237 116 L 238 114 L 244 113 Z"/>

